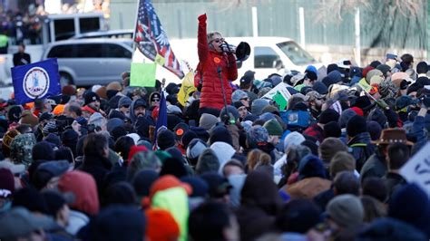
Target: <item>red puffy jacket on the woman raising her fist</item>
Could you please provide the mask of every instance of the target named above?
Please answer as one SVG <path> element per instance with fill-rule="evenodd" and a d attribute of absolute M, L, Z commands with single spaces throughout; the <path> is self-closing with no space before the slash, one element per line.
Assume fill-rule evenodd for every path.
<path fill-rule="evenodd" d="M 200 108 L 209 107 L 221 110 L 224 107 L 222 88 L 218 69 L 226 92 L 227 104 L 231 103 L 230 82 L 238 78 L 238 66 L 233 54 L 217 53 L 210 50 L 206 37 L 206 14 L 199 16 L 197 49 L 199 64 L 203 72 L 203 84 L 200 96 Z M 198 73 L 200 74 L 200 73 Z"/>

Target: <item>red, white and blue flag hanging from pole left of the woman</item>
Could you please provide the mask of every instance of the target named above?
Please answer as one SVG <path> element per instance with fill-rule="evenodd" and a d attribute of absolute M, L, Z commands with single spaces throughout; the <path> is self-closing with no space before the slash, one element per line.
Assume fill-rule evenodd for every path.
<path fill-rule="evenodd" d="M 155 13 L 151 0 L 139 0 L 134 42 L 139 51 L 151 61 L 155 61 L 157 54 L 161 55 L 164 58 L 163 67 L 179 78 L 183 78 L 181 64 L 171 50 L 171 43 Z"/>

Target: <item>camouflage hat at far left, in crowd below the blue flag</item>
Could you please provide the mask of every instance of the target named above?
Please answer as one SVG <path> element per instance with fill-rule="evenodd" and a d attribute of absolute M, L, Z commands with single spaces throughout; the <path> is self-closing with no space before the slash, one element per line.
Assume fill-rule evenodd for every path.
<path fill-rule="evenodd" d="M 26 167 L 33 161 L 32 149 L 36 140 L 33 133 L 20 134 L 12 140 L 11 159 L 15 163 L 23 163 Z"/>

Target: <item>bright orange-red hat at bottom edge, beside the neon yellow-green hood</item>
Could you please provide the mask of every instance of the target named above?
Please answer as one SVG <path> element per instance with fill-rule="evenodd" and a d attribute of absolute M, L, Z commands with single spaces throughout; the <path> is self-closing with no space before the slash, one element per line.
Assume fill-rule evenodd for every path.
<path fill-rule="evenodd" d="M 145 211 L 145 215 L 148 220 L 145 234 L 150 240 L 178 240 L 181 230 L 169 211 L 150 208 Z"/>

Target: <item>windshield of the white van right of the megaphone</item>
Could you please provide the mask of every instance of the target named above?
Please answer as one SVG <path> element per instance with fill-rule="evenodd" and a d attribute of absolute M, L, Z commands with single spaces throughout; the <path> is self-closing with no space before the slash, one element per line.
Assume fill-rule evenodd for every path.
<path fill-rule="evenodd" d="M 317 61 L 308 52 L 298 46 L 298 43 L 288 41 L 277 43 L 277 45 L 283 53 L 287 54 L 291 62 L 296 65 L 317 63 Z"/>

